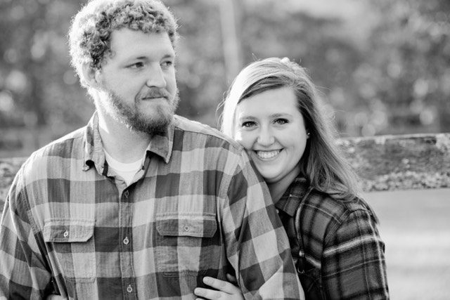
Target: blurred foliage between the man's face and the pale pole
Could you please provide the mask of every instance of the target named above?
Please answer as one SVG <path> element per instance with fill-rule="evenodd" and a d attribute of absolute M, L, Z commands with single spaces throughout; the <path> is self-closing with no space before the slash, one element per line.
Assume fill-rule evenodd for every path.
<path fill-rule="evenodd" d="M 176 79 L 178 113 L 211 126 L 224 93 L 226 69 L 221 42 L 219 1 L 166 0 L 179 21 Z"/>

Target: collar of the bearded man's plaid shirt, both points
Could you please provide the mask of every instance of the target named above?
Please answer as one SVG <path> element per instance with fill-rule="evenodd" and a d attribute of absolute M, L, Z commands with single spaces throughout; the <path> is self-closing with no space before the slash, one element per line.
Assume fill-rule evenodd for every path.
<path fill-rule="evenodd" d="M 164 159 L 165 163 L 169 162 L 172 155 L 172 146 L 174 144 L 174 131 L 177 119 L 174 117 L 171 124 L 167 128 L 166 136 L 156 135 L 150 141 L 150 145 L 146 150 L 146 153 L 153 152 Z M 96 166 L 96 169 L 100 174 L 103 174 L 103 168 L 105 165 L 105 153 L 103 152 L 103 144 L 101 142 L 100 131 L 98 131 L 98 114 L 94 112 L 94 115 L 86 125 L 86 131 L 84 133 L 84 159 L 83 170 L 89 170 L 92 165 Z"/>

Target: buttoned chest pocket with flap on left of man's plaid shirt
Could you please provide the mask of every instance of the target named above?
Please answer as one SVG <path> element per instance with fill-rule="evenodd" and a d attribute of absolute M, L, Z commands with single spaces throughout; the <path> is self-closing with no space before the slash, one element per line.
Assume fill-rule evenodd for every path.
<path fill-rule="evenodd" d="M 71 282 L 94 282 L 96 252 L 94 220 L 49 219 L 44 221 L 44 241 L 48 244 L 52 268 Z"/>

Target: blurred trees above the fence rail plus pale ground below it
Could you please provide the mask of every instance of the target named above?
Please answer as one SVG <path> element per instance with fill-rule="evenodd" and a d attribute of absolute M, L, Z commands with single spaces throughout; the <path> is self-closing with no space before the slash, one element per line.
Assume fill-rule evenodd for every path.
<path fill-rule="evenodd" d="M 179 19 L 179 115 L 217 126 L 238 70 L 307 67 L 341 136 L 450 131 L 448 0 L 167 0 Z M 86 1 L 0 1 L 0 157 L 84 126 L 94 105 L 66 34 Z M 450 299 L 449 190 L 371 193 L 392 299 Z M 432 292 L 434 291 L 434 292 Z"/>

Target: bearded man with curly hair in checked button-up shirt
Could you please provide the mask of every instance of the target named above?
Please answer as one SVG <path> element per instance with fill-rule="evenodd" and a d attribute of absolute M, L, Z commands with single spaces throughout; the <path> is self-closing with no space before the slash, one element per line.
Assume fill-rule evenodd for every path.
<path fill-rule="evenodd" d="M 247 298 L 299 299 L 287 237 L 238 144 L 174 115 L 176 22 L 156 0 L 73 20 L 86 127 L 34 152 L 6 200 L 0 298 L 191 299 L 231 272 Z"/>

